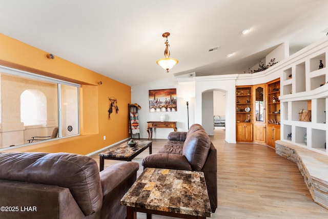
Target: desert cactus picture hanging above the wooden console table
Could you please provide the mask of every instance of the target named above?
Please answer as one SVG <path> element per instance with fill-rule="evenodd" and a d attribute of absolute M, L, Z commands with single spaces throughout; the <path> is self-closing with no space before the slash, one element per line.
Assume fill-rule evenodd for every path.
<path fill-rule="evenodd" d="M 176 88 L 149 90 L 149 112 L 175 112 Z"/>

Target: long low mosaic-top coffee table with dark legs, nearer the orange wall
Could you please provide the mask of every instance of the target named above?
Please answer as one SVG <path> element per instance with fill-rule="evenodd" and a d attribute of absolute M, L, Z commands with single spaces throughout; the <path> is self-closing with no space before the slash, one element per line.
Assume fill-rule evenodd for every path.
<path fill-rule="evenodd" d="M 129 147 L 128 142 L 110 147 L 107 151 L 99 153 L 99 170 L 104 170 L 106 160 L 132 161 L 134 157 L 149 147 L 149 154 L 152 153 L 152 141 L 136 141 L 137 145 Z"/>

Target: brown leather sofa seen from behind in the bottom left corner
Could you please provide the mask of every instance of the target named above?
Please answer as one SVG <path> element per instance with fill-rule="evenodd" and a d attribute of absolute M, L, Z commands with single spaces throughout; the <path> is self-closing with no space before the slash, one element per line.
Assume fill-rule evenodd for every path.
<path fill-rule="evenodd" d="M 70 153 L 0 153 L 0 218 L 126 218 L 121 197 L 139 164 L 99 173 L 91 157 Z"/>

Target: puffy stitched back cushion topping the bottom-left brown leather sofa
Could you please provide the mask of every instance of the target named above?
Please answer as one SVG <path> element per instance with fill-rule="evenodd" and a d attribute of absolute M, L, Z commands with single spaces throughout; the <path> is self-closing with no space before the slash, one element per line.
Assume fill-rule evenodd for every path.
<path fill-rule="evenodd" d="M 88 156 L 70 153 L 0 153 L 0 179 L 69 188 L 85 215 L 98 211 L 103 205 L 98 166 Z"/>

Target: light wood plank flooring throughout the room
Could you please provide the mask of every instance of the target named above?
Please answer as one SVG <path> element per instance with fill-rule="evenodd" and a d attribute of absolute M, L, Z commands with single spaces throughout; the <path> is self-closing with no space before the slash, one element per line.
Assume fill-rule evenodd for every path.
<path fill-rule="evenodd" d="M 328 218 L 328 209 L 313 202 L 296 164 L 255 144 L 228 144 L 216 127 L 212 142 L 218 158 L 218 208 L 212 218 Z M 156 153 L 167 140 L 153 140 Z M 139 165 L 145 150 L 133 162 Z M 92 155 L 99 165 L 98 153 Z M 105 168 L 120 161 L 105 160 Z M 142 172 L 140 165 L 138 176 Z M 137 213 L 144 219 L 146 214 Z M 172 218 L 153 215 L 157 218 Z"/>

